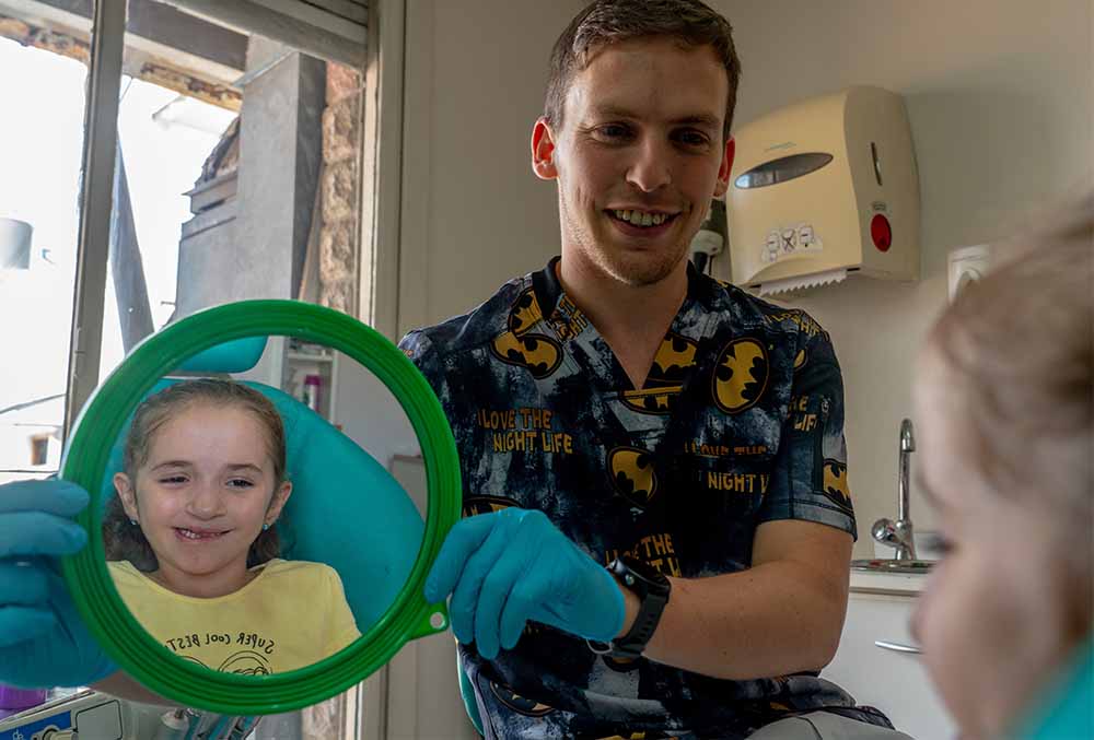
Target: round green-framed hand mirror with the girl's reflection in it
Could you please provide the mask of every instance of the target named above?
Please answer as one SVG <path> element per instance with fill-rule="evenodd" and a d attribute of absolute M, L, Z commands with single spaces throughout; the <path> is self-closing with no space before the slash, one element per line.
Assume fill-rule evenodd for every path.
<path fill-rule="evenodd" d="M 294 397 L 336 367 L 342 430 L 309 408 L 329 397 Z M 416 437 L 428 505 L 385 470 Z M 409 361 L 345 315 L 265 301 L 168 326 L 89 401 L 62 475 L 93 492 L 90 544 L 63 561 L 80 615 L 173 701 L 306 706 L 447 625 L 421 585 L 459 514 L 451 432 Z"/>

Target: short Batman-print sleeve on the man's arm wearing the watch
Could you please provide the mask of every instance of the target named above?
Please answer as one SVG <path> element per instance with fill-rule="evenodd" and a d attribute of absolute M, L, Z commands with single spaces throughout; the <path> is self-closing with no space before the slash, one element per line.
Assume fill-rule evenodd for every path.
<path fill-rule="evenodd" d="M 828 333 L 803 316 L 790 409 L 757 524 L 817 521 L 857 538 L 847 484 L 843 377 Z"/>

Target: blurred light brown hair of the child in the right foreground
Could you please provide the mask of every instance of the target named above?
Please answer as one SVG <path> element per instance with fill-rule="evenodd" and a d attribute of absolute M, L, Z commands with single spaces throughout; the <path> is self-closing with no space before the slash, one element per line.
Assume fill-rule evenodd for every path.
<path fill-rule="evenodd" d="M 928 337 L 999 495 L 1029 505 L 1079 539 L 1090 575 L 1094 521 L 1094 193 L 1056 226 L 1001 245 L 1008 260 L 966 289 Z M 1020 502 L 1021 503 L 1021 502 Z M 1082 547 L 1085 542 L 1087 547 Z"/>

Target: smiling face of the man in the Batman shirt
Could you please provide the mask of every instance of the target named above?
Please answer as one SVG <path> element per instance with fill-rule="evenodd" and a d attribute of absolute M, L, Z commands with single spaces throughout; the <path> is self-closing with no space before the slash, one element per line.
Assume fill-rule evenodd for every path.
<path fill-rule="evenodd" d="M 533 132 L 536 174 L 558 179 L 563 262 L 628 285 L 683 269 L 729 183 L 728 95 L 710 47 L 651 38 L 594 50 L 559 130 L 540 120 Z"/>

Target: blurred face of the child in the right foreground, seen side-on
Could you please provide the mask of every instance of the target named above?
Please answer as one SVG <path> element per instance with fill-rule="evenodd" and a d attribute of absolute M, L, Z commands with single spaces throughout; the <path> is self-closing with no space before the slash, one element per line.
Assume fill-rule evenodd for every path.
<path fill-rule="evenodd" d="M 912 618 L 923 660 L 962 737 L 1004 737 L 1066 654 L 1054 577 L 1060 528 L 1036 491 L 993 490 L 952 374 L 936 357 L 917 374 L 920 482 L 948 544 Z"/>

